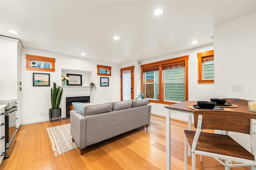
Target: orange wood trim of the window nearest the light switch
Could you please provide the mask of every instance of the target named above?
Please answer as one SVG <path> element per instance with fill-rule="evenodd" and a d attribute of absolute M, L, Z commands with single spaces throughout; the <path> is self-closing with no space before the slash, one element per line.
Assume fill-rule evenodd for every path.
<path fill-rule="evenodd" d="M 197 58 L 198 58 L 198 84 L 214 83 L 214 79 L 210 79 L 210 80 L 202 79 L 202 62 L 204 60 L 210 60 L 210 59 L 214 60 L 214 50 L 197 53 Z"/>

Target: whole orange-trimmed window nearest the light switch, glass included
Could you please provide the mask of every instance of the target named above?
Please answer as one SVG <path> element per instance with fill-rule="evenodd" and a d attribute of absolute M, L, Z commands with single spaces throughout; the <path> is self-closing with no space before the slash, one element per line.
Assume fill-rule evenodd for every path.
<path fill-rule="evenodd" d="M 214 83 L 214 50 L 197 53 L 198 84 Z"/>

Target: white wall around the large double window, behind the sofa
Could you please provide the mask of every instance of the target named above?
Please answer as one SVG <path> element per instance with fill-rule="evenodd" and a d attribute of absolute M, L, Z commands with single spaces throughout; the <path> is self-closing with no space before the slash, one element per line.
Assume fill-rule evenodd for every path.
<path fill-rule="evenodd" d="M 149 59 L 146 61 L 142 61 L 141 64 L 154 63 L 158 61 L 173 59 L 182 56 L 189 56 L 188 59 L 188 100 L 203 100 L 210 101 L 210 98 L 214 98 L 214 84 L 198 84 L 198 59 L 197 53 L 209 51 L 214 49 L 213 44 L 205 45 L 202 47 L 197 47 L 194 49 L 189 49 L 185 51 L 180 51 L 177 53 L 172 53 L 168 55 L 164 55 L 161 57 L 156 57 L 154 59 Z M 214 57 L 215 58 L 215 57 Z M 215 64 L 214 64 L 215 66 Z M 215 69 L 215 68 L 214 68 Z M 156 115 L 166 115 L 165 104 L 155 104 L 152 105 L 152 113 Z M 186 121 L 188 118 L 186 115 L 172 115 L 172 118 L 179 119 L 182 121 Z"/>

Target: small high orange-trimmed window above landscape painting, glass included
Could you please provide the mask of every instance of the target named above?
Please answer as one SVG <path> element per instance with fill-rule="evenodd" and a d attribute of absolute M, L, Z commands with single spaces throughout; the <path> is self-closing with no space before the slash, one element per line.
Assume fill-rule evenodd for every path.
<path fill-rule="evenodd" d="M 27 70 L 55 72 L 55 59 L 26 54 Z"/>

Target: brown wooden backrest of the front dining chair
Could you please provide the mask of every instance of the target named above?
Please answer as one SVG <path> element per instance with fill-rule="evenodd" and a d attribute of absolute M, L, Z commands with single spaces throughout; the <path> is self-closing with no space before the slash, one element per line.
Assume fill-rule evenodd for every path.
<path fill-rule="evenodd" d="M 198 115 L 202 115 L 201 129 L 232 131 L 250 135 L 250 119 L 255 113 L 241 111 L 197 110 L 194 111 L 194 125 L 197 128 Z"/>

